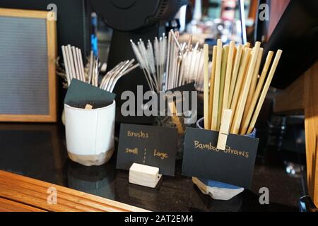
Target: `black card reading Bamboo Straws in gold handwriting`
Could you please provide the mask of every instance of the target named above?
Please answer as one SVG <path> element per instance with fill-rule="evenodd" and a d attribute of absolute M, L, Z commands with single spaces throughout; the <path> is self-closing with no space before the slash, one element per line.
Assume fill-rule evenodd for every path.
<path fill-rule="evenodd" d="M 259 139 L 229 134 L 225 150 L 217 142 L 217 131 L 187 128 L 182 174 L 250 189 Z"/>

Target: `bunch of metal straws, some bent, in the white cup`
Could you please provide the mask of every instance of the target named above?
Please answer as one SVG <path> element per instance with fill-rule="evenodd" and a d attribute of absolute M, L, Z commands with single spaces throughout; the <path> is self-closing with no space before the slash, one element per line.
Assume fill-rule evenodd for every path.
<path fill-rule="evenodd" d="M 71 45 L 62 46 L 62 53 L 65 64 L 66 79 L 70 85 L 72 78 L 76 78 L 84 83 L 100 87 L 103 90 L 112 92 L 119 78 L 126 75 L 130 71 L 136 69 L 139 64 L 134 65 L 134 59 L 130 61 L 122 61 L 114 69 L 107 72 L 98 85 L 98 75 L 100 73 L 100 63 L 98 57 L 90 52 L 88 71 L 84 69 L 81 49 L 71 47 Z"/>

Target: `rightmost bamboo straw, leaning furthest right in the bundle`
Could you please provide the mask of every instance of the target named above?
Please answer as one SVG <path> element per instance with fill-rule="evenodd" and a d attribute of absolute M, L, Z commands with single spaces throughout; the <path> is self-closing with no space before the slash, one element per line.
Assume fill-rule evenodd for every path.
<path fill-rule="evenodd" d="M 249 124 L 249 129 L 247 130 L 247 133 L 252 133 L 252 131 L 254 129 L 255 123 L 257 121 L 257 117 L 259 117 L 259 112 L 261 111 L 261 106 L 264 103 L 266 94 L 267 94 L 267 92 L 269 90 L 269 85 L 271 85 L 271 81 L 273 79 L 273 75 L 275 74 L 275 71 L 277 69 L 278 62 L 281 59 L 281 54 L 282 53 L 283 53 L 283 51 L 281 51 L 281 49 L 278 49 L 278 51 L 276 53 L 276 56 L 275 56 L 275 59 L 273 60 L 273 64 L 271 66 L 271 71 L 269 71 L 269 76 L 267 77 L 266 83 L 265 83 L 264 88 L 263 88 L 263 90 L 261 92 L 261 97 L 259 97 L 259 102 L 257 103 L 257 107 L 256 107 L 255 112 L 253 114 L 252 121 Z"/>

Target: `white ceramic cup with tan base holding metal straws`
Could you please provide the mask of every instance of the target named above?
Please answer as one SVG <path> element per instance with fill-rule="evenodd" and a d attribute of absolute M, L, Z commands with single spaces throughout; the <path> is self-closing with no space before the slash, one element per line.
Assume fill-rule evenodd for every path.
<path fill-rule="evenodd" d="M 64 104 L 69 157 L 81 165 L 102 165 L 114 152 L 115 101 L 97 109 Z"/>

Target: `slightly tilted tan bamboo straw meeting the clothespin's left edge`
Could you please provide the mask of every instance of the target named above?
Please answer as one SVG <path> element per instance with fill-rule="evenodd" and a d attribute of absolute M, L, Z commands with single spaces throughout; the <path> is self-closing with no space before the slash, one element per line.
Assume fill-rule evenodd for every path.
<path fill-rule="evenodd" d="M 218 100 L 218 122 L 217 122 L 217 131 L 220 129 L 220 119 L 223 109 L 223 93 L 224 93 L 224 84 L 225 84 L 225 73 L 226 73 L 226 64 L 228 61 L 228 46 L 223 47 L 222 53 L 222 64 L 221 64 L 221 73 L 220 73 L 220 94 Z"/>

